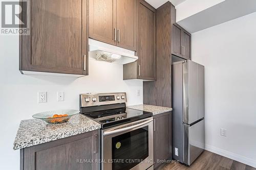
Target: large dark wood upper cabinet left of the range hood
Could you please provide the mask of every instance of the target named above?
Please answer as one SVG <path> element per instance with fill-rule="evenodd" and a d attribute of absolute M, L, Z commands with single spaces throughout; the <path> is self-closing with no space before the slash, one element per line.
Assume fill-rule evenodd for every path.
<path fill-rule="evenodd" d="M 22 73 L 88 74 L 87 0 L 34 0 L 29 19 L 30 35 L 19 37 Z"/>

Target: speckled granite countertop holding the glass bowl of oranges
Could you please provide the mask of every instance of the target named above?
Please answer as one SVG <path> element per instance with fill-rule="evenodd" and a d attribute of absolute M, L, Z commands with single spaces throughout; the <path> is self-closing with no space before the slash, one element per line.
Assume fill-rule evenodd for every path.
<path fill-rule="evenodd" d="M 40 119 L 22 120 L 13 144 L 13 149 L 22 149 L 36 144 L 90 132 L 100 129 L 100 124 L 82 115 L 76 114 L 66 123 L 48 124 Z"/>

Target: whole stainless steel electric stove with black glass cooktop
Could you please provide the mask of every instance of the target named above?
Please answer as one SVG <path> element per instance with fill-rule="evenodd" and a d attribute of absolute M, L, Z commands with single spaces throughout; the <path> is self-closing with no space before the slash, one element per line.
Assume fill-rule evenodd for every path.
<path fill-rule="evenodd" d="M 80 94 L 80 113 L 101 124 L 102 170 L 153 168 L 153 114 L 126 102 L 126 93 Z"/>

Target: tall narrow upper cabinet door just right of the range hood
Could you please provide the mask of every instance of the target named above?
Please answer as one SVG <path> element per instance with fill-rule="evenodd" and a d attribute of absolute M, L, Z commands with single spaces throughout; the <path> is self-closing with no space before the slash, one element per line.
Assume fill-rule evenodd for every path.
<path fill-rule="evenodd" d="M 156 79 L 155 35 L 156 11 L 144 1 L 138 1 L 138 78 Z"/>

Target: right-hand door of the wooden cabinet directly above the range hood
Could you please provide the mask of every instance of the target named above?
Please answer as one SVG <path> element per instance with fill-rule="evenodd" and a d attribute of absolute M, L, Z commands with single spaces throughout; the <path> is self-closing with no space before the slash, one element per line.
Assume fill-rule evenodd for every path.
<path fill-rule="evenodd" d="M 136 51 L 136 0 L 116 0 L 117 46 Z"/>

